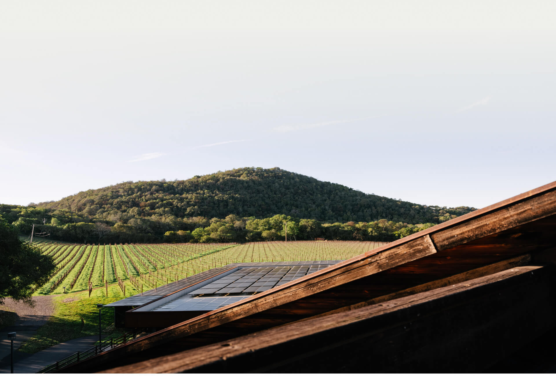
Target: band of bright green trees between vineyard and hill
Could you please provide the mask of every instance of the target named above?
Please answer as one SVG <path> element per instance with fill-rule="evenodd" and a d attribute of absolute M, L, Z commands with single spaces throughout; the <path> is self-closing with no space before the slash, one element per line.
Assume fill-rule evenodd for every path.
<path fill-rule="evenodd" d="M 228 215 L 224 219 L 203 216 L 165 217 L 165 221 L 133 218 L 124 222 L 86 221 L 66 210 L 0 205 L 0 217 L 11 221 L 21 234 L 30 235 L 37 224 L 35 239 L 82 242 L 251 242 L 284 240 L 369 240 L 392 241 L 435 225 L 408 224 L 386 219 L 369 222 L 322 222 L 275 215 L 264 219 Z M 450 215 L 450 218 L 455 215 Z"/>

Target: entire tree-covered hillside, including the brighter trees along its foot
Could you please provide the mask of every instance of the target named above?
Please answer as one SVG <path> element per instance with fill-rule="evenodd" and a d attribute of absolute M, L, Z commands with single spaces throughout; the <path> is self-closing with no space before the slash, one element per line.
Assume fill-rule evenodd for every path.
<path fill-rule="evenodd" d="M 60 201 L 0 205 L 30 234 L 77 242 L 389 241 L 473 211 L 423 206 L 280 168 L 241 168 L 185 181 L 122 182 Z"/>

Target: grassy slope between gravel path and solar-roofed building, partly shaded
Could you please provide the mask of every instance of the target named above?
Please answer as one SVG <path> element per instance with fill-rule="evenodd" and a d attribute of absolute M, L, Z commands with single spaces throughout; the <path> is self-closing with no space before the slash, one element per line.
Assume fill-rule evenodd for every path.
<path fill-rule="evenodd" d="M 126 296 L 137 294 L 131 284 L 126 284 Z M 87 335 L 98 335 L 98 309 L 96 304 L 110 304 L 123 299 L 118 285 L 108 287 L 108 297 L 104 289 L 93 290 L 91 297 L 88 292 L 74 292 L 52 296 L 54 314 L 46 324 L 38 329 L 37 334 L 25 341 L 20 351 L 34 354 L 38 351 L 62 343 L 66 340 L 81 338 Z M 120 336 L 122 329 L 113 324 L 114 309 L 102 309 L 102 334 Z"/>

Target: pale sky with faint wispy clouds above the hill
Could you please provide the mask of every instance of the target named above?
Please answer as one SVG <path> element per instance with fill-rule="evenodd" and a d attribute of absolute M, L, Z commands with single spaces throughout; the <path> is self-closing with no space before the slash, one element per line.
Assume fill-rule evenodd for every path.
<path fill-rule="evenodd" d="M 556 2 L 0 2 L 0 203 L 280 167 L 424 205 L 556 180 Z"/>

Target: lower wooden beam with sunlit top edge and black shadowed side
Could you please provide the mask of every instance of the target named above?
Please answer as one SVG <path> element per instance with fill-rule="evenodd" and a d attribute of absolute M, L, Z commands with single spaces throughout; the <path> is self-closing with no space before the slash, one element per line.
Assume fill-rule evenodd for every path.
<path fill-rule="evenodd" d="M 468 363 L 466 369 L 462 370 L 477 371 L 473 368 L 492 365 L 497 358 L 502 358 L 504 355 L 500 354 L 500 350 L 508 353 L 517 346 L 501 344 L 497 349 L 498 354 L 486 355 L 486 359 L 490 356 L 492 360 L 485 361 L 485 355 L 481 356 L 481 353 L 493 341 L 495 343 L 499 331 L 507 331 L 509 339 L 515 343 L 534 339 L 544 329 L 554 327 L 549 321 L 556 314 L 552 297 L 554 287 L 547 285 L 548 281 L 553 282 L 553 277 L 551 271 L 543 269 L 546 267 L 515 267 L 448 287 L 277 326 L 217 344 L 104 370 L 103 373 L 214 373 L 224 371 L 224 368 L 229 368 L 227 371 L 231 373 L 257 369 L 291 372 L 296 369 L 322 371 L 327 366 L 331 368 L 329 371 L 341 371 L 341 367 L 345 368 L 346 364 L 345 371 L 356 371 L 363 366 L 368 372 L 381 371 L 381 368 L 386 368 L 386 371 L 408 371 L 404 365 L 406 368 L 434 368 L 436 360 L 439 361 L 438 365 L 451 368 L 449 371 L 454 370 L 450 363 L 459 364 L 461 368 L 465 368 L 465 363 Z M 518 292 L 520 299 L 523 298 L 518 305 L 512 299 L 514 292 Z M 478 317 L 473 315 L 477 310 L 485 312 L 485 315 L 489 313 L 482 327 L 475 323 L 481 321 L 480 314 Z M 468 313 L 473 314 L 469 317 Z M 453 318 L 449 315 L 461 322 L 451 322 Z M 524 315 L 532 315 L 537 321 L 527 321 L 525 324 Z M 439 328 L 435 328 L 437 324 Z M 487 324 L 490 328 L 485 327 Z M 523 328 L 530 330 L 530 334 L 516 336 L 515 331 L 507 328 L 508 324 L 522 324 Z M 408 334 L 411 333 L 405 326 L 419 329 L 419 333 L 411 337 L 411 348 L 406 346 Z M 445 326 L 449 326 L 449 329 Z M 489 329 L 492 329 L 492 334 Z M 466 331 L 475 333 L 468 334 Z M 484 338 L 480 339 L 478 333 Z M 509 343 L 507 339 L 508 336 L 503 336 L 502 341 Z M 483 342 L 486 346 L 481 345 Z M 480 345 L 479 349 L 469 349 L 470 344 Z M 443 348 L 446 350 L 443 351 Z M 388 354 L 390 349 L 393 351 L 391 355 Z M 461 350 L 461 353 L 456 350 Z M 451 351 L 455 352 L 450 357 Z M 405 356 L 395 363 L 398 355 Z M 469 366 L 465 357 L 476 358 L 478 355 L 483 364 Z M 389 360 L 381 360 L 384 356 Z M 447 361 L 441 361 L 449 357 Z M 201 369 L 203 366 L 206 368 Z M 437 368 L 436 371 L 441 369 Z"/>

